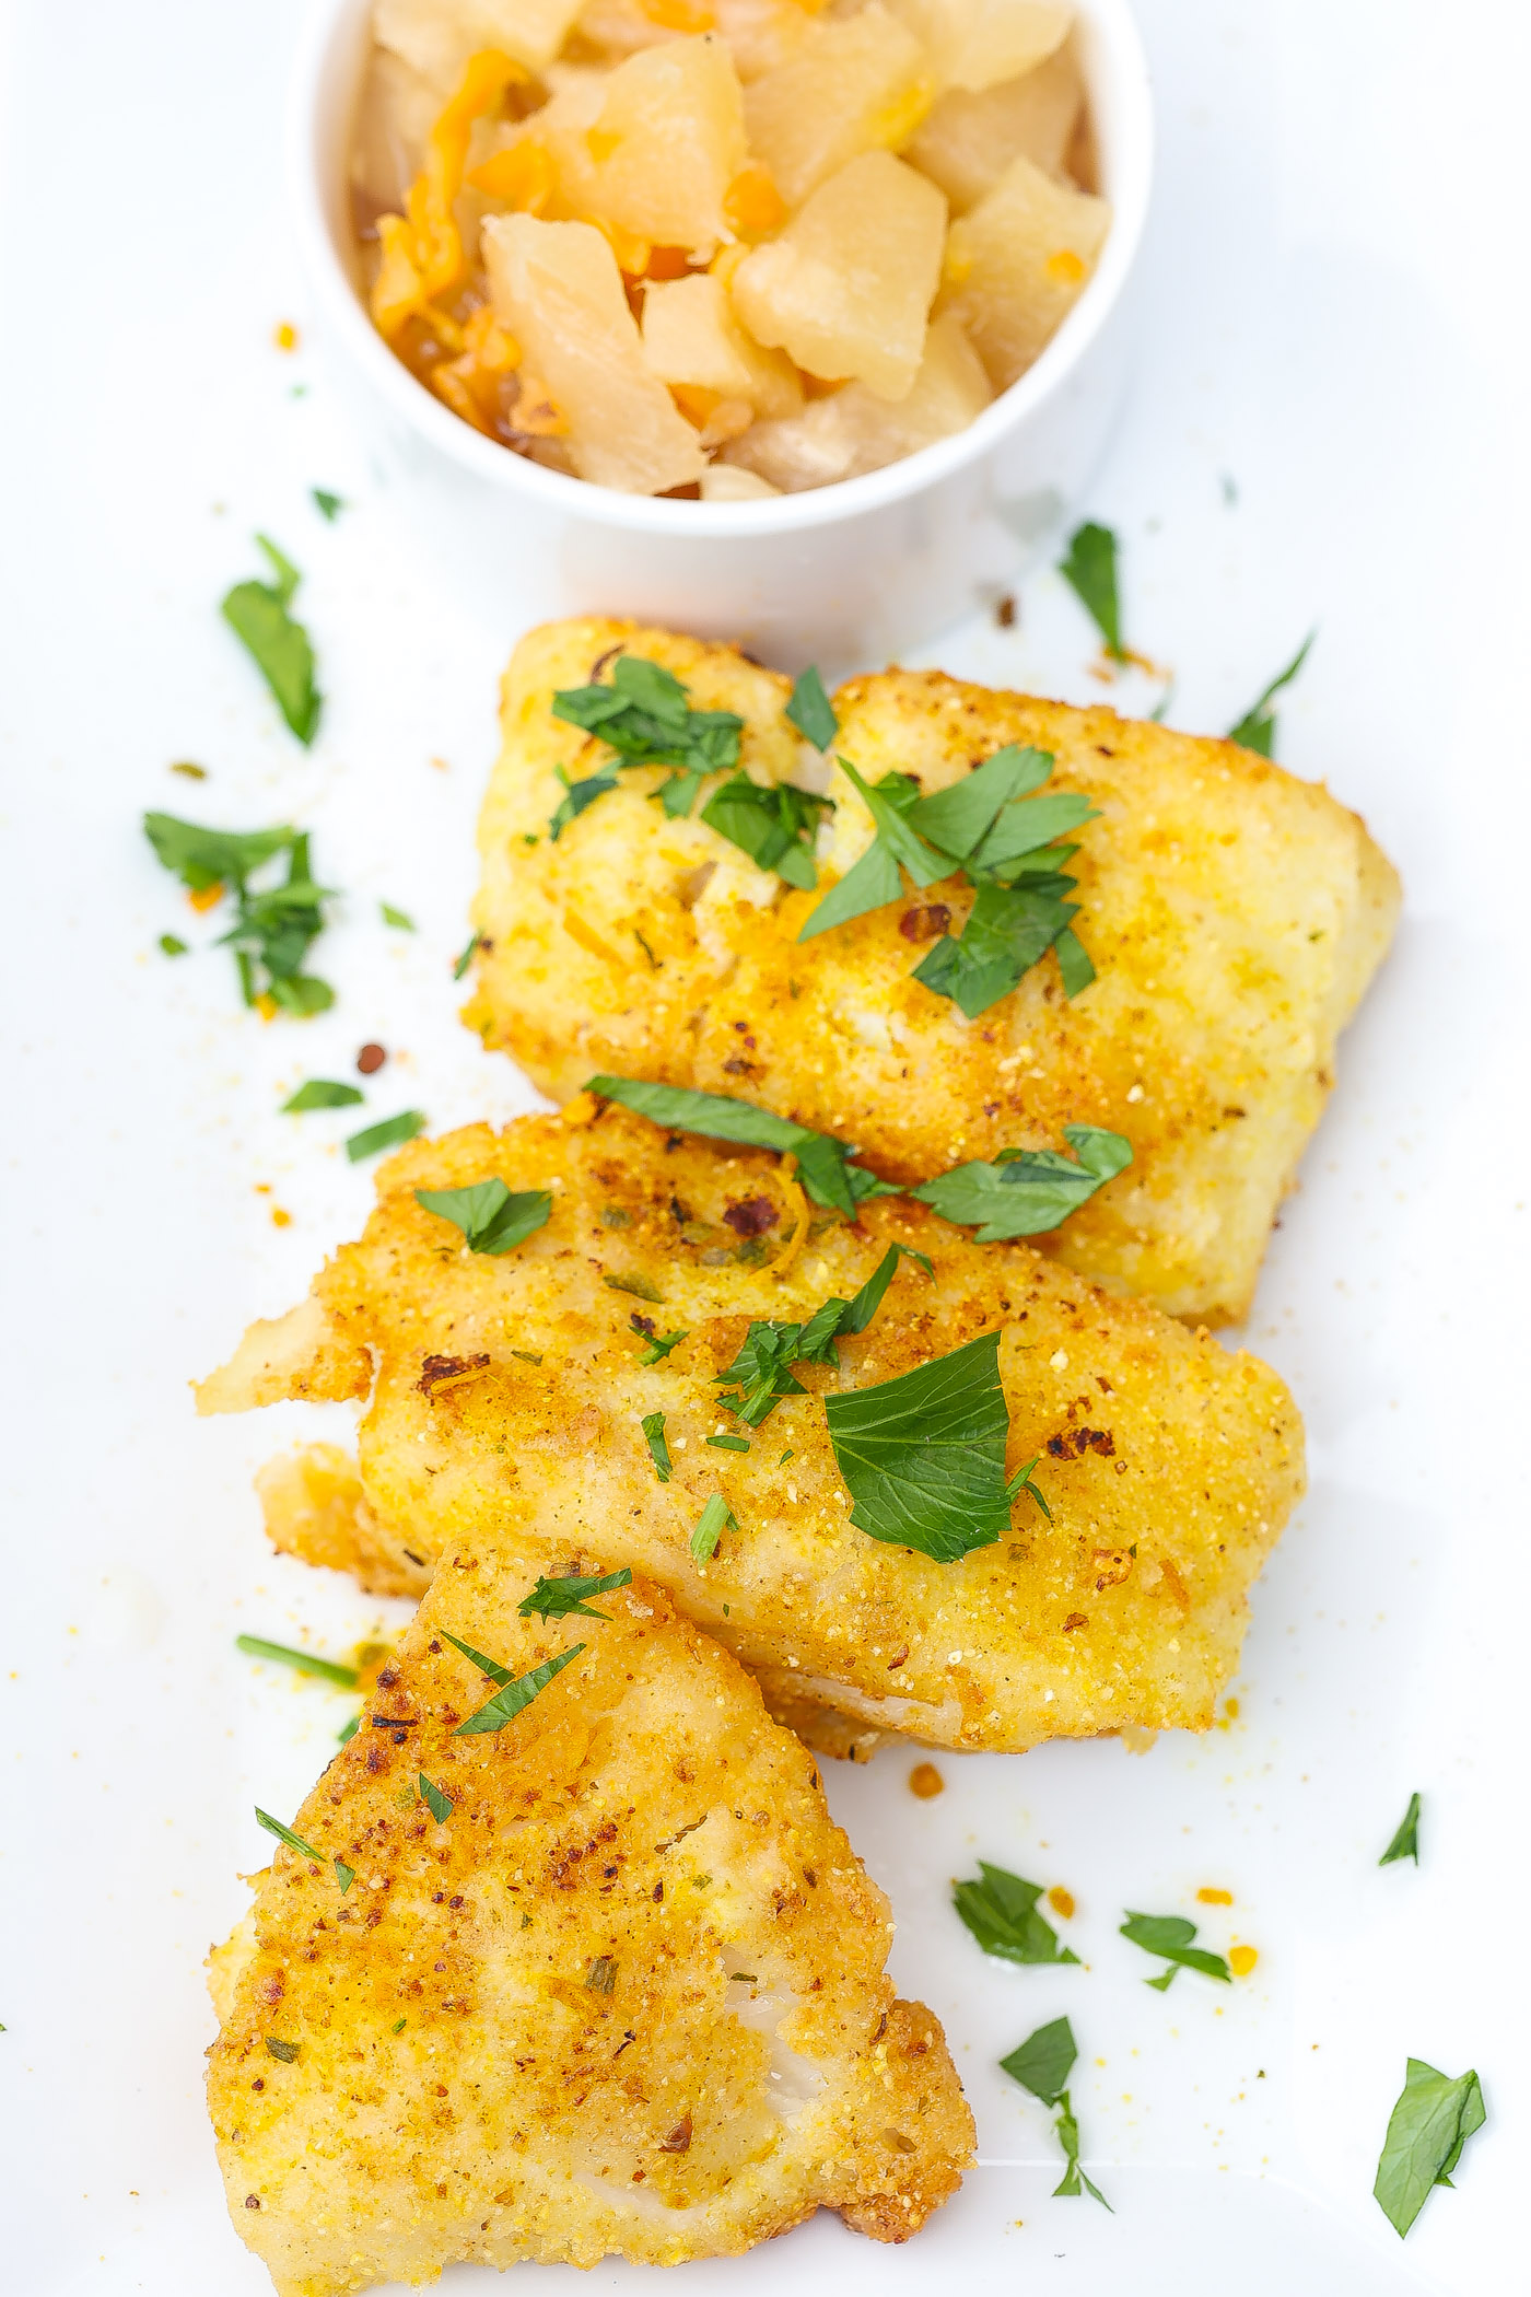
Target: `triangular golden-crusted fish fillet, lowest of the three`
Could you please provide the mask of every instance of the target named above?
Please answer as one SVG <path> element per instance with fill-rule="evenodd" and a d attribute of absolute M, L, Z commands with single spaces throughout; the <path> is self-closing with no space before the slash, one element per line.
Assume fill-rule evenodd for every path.
<path fill-rule="evenodd" d="M 457 1553 L 294 1819 L 319 1856 L 211 1957 L 234 2228 L 282 2297 L 735 2256 L 817 2207 L 907 2240 L 973 2118 L 813 1757 L 659 1590 L 542 1624 L 530 1587 Z M 583 1649 L 464 1737 L 494 1684 L 448 1635 L 512 1677 Z"/>

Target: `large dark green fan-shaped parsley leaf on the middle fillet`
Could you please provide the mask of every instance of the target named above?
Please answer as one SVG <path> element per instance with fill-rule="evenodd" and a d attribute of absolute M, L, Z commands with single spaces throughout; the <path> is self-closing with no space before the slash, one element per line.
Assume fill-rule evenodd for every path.
<path fill-rule="evenodd" d="M 856 1502 L 852 1523 L 891 1546 L 950 1564 L 1010 1528 L 1021 1491 L 1040 1498 L 1028 1468 L 1005 1482 L 998 1332 L 877 1387 L 824 1397 L 824 1417 Z"/>

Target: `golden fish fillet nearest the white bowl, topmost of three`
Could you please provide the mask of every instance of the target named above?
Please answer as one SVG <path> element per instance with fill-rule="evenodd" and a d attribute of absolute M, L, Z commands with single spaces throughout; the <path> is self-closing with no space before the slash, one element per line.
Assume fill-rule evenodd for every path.
<path fill-rule="evenodd" d="M 780 717 L 787 680 L 725 645 L 608 620 L 523 639 L 480 822 L 464 1018 L 484 1043 L 558 1100 L 599 1070 L 755 1100 L 858 1144 L 893 1181 L 1106 1126 L 1132 1139 L 1134 1167 L 1047 1250 L 1175 1316 L 1242 1318 L 1338 1031 L 1393 933 L 1398 880 L 1363 822 L 1233 742 L 939 671 L 858 678 L 836 696 L 836 749 L 868 781 L 897 769 L 934 792 L 1017 742 L 1054 753 L 1049 788 L 1099 809 L 1070 864 L 1095 983 L 1070 1004 L 1049 953 L 966 1020 L 911 979 L 939 912 L 953 933 L 966 919 L 962 877 L 799 944 L 872 836 L 838 767 L 819 894 L 702 820 L 666 818 L 650 804 L 661 767 L 627 769 L 549 841 L 558 767 L 588 776 L 611 756 L 553 719 L 551 698 L 617 648 L 675 671 L 695 707 L 739 712 L 755 781 L 803 779 L 813 756 Z"/>

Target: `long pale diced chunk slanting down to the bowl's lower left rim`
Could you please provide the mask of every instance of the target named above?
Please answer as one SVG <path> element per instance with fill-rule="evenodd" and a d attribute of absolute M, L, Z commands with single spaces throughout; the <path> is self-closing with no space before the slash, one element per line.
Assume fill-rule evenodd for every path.
<path fill-rule="evenodd" d="M 574 471 L 624 494 L 698 480 L 707 457 L 643 358 L 617 260 L 594 225 L 491 216 L 482 246 L 496 317 L 562 416 Z"/>

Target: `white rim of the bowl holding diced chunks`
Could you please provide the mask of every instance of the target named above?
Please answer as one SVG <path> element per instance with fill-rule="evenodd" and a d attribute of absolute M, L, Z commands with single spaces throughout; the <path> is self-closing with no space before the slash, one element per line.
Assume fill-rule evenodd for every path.
<path fill-rule="evenodd" d="M 480 436 L 461 416 L 420 384 L 395 358 L 356 292 L 356 283 L 335 246 L 328 221 L 324 172 L 335 163 L 328 149 L 324 96 L 335 62 L 335 48 L 356 37 L 367 16 L 367 0 L 319 0 L 310 9 L 289 87 L 287 177 L 298 241 L 308 276 L 317 287 L 331 324 L 358 365 L 372 377 L 393 411 L 473 478 L 507 496 L 530 496 L 549 510 L 601 526 L 666 537 L 764 537 L 836 526 L 891 503 L 925 494 L 943 478 L 980 462 L 1005 436 L 1026 425 L 1054 400 L 1079 368 L 1083 354 L 1102 333 L 1120 303 L 1127 276 L 1143 241 L 1155 163 L 1155 117 L 1148 57 L 1129 0 L 1074 0 L 1095 44 L 1090 76 L 1097 106 L 1097 136 L 1109 147 L 1111 230 L 1104 253 L 1083 294 L 1063 319 L 1058 333 L 1033 365 L 1001 390 L 966 430 L 918 448 L 881 471 L 861 478 L 831 480 L 799 494 L 778 494 L 746 503 L 695 503 L 652 494 L 622 494 L 588 478 L 549 471 L 512 448 Z M 1099 129 L 1099 96 L 1106 96 L 1111 126 Z"/>

